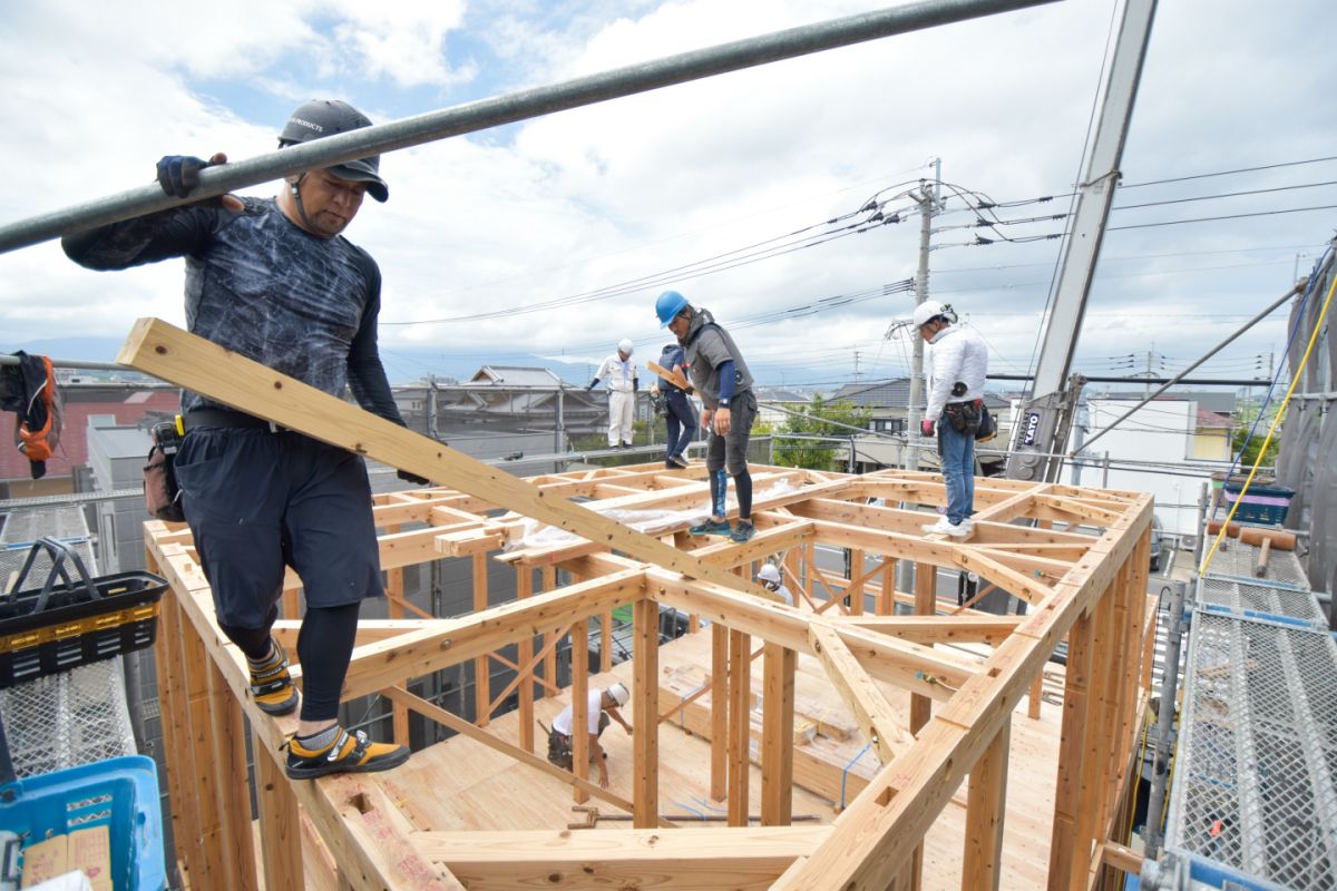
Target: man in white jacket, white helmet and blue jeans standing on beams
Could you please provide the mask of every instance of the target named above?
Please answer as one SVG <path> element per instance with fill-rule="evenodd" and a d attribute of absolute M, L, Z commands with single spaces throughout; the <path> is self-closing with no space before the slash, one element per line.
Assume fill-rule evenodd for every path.
<path fill-rule="evenodd" d="M 989 354 L 984 339 L 956 325 L 956 313 L 937 301 L 915 307 L 915 326 L 929 342 L 928 407 L 920 431 L 932 437 L 947 484 L 947 513 L 924 526 L 931 534 L 964 538 L 975 529 L 975 431 L 980 429 Z"/>

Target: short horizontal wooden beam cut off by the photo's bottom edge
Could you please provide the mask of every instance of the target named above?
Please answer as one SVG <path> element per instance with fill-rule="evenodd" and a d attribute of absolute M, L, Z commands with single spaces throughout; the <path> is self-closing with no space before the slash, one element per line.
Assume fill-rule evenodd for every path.
<path fill-rule="evenodd" d="M 763 891 L 830 836 L 829 826 L 421 832 L 418 850 L 469 891 L 655 888 Z"/>

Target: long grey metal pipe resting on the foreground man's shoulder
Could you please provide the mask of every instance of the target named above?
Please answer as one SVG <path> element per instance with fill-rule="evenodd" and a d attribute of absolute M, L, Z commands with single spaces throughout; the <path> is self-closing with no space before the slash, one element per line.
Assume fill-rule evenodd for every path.
<path fill-rule="evenodd" d="M 550 115 L 555 111 L 579 108 L 730 71 L 1054 1 L 924 0 L 893 9 L 865 12 L 705 49 L 694 49 L 654 61 L 576 77 L 560 84 L 481 99 L 388 124 L 290 146 L 235 163 L 210 167 L 201 172 L 199 187 L 187 200 L 170 198 L 156 184 L 148 184 L 84 204 L 31 216 L 0 227 L 0 252 L 37 244 L 94 226 L 104 226 L 222 195 L 303 170 L 333 167 L 356 158 L 384 155 L 398 148 L 500 127 Z"/>

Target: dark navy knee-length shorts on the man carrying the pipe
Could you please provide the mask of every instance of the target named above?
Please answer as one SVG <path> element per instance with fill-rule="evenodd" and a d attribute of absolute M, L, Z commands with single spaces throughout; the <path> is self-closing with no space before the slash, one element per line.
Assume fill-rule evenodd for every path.
<path fill-rule="evenodd" d="M 299 433 L 202 427 L 182 442 L 176 480 L 221 624 L 263 628 L 285 565 L 308 606 L 384 593 L 358 456 Z"/>

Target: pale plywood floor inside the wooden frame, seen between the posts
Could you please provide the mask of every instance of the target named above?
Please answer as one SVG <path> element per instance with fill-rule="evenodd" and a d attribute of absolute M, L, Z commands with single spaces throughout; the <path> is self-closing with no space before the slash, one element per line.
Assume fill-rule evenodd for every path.
<path fill-rule="evenodd" d="M 959 652 L 959 651 L 957 651 Z M 631 665 L 614 668 L 611 675 L 595 675 L 594 685 L 607 685 L 616 677 L 630 687 Z M 660 709 L 678 701 L 673 691 L 690 691 L 710 671 L 710 632 L 689 635 L 660 647 Z M 1062 689 L 1062 668 L 1051 665 L 1048 685 Z M 754 663 L 753 689 L 759 700 L 761 661 Z M 909 695 L 885 688 L 889 699 L 908 720 Z M 709 708 L 709 693 L 699 700 Z M 535 704 L 535 715 L 544 725 L 566 705 L 567 695 L 545 697 Z M 798 660 L 796 704 L 800 713 L 821 712 L 824 723 L 838 735 L 841 728 L 854 728 L 853 717 L 834 688 L 825 680 L 821 665 L 809 657 Z M 628 716 L 630 717 L 630 716 Z M 759 713 L 755 716 L 759 727 Z M 802 719 L 800 717 L 800 721 Z M 516 741 L 517 713 L 492 723 L 492 732 Z M 1050 831 L 1054 814 L 1054 783 L 1058 767 L 1060 708 L 1046 704 L 1039 720 L 1025 713 L 1025 704 L 1012 719 L 1012 749 L 1008 767 L 1008 806 L 1004 828 L 1003 887 L 1036 888 L 1044 886 L 1048 866 Z M 723 815 L 723 801 L 711 801 L 710 744 L 689 732 L 691 720 L 673 719 L 660 725 L 659 796 L 662 814 L 673 819 L 687 814 Z M 545 739 L 535 728 L 536 748 L 545 751 Z M 616 725 L 604 731 L 608 773 L 612 791 L 631 797 L 631 739 Z M 846 796 L 861 788 L 857 780 L 872 776 L 878 763 L 864 739 L 853 731 L 848 739 L 817 736 L 810 744 L 797 747 L 806 752 L 814 768 L 845 776 Z M 755 748 L 754 748 L 755 751 Z M 862 752 L 862 753 L 861 753 Z M 797 767 L 796 767 L 797 775 Z M 583 819 L 571 811 L 571 787 L 539 771 L 527 768 L 508 756 L 480 743 L 456 736 L 416 752 L 404 767 L 384 775 L 368 775 L 400 804 L 413 823 L 428 831 L 449 830 L 541 830 L 564 828 L 568 822 Z M 857 788 L 856 788 L 857 787 Z M 829 788 L 828 788 L 829 791 Z M 751 814 L 759 814 L 761 771 L 754 765 L 750 783 Z M 822 823 L 838 812 L 838 793 L 814 795 L 794 789 L 794 815 L 812 815 Z M 834 799 L 834 800 L 832 800 Z M 599 804 L 591 801 L 591 804 Z M 611 806 L 599 804 L 600 812 L 618 814 Z M 960 888 L 965 787 L 956 789 L 951 804 L 927 838 L 924 858 L 925 888 Z M 630 827 L 630 822 L 606 822 L 600 828 Z M 721 823 L 721 826 L 723 826 Z"/>

